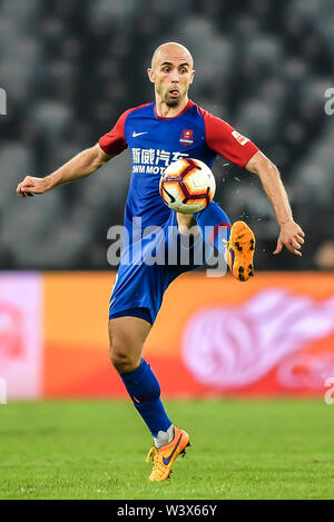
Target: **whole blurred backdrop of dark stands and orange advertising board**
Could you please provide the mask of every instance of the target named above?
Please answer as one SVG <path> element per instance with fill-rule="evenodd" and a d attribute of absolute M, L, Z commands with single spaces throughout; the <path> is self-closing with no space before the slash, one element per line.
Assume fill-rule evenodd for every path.
<path fill-rule="evenodd" d="M 122 223 L 129 155 L 42 197 L 21 200 L 16 187 L 153 100 L 146 67 L 168 40 L 195 57 L 191 99 L 278 166 L 307 242 L 301 259 L 273 256 L 278 227 L 258 180 L 218 159 L 216 200 L 254 227 L 256 277 L 183 276 L 146 354 L 165 395 L 324 393 L 334 375 L 332 3 L 0 0 L 0 376 L 10 397 L 124 393 L 107 355 L 107 230 Z"/>

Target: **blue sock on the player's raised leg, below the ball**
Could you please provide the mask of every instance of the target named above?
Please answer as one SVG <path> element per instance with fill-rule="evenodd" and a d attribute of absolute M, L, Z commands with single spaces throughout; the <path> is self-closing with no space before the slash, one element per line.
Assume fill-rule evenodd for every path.
<path fill-rule="evenodd" d="M 204 210 L 194 214 L 198 227 L 205 240 L 210 245 L 212 250 L 214 246 L 224 256 L 225 243 L 223 239 L 228 240 L 230 232 L 230 220 L 227 214 L 215 201 L 212 201 Z M 209 227 L 206 229 L 206 227 Z"/>

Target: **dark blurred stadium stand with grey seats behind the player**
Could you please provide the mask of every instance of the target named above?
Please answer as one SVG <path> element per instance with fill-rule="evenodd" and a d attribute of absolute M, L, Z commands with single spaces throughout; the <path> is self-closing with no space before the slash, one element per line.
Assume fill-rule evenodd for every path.
<path fill-rule="evenodd" d="M 18 6 L 20 9 L 18 9 Z M 257 269 L 322 268 L 333 239 L 332 0 L 0 0 L 0 268 L 108 269 L 107 229 L 122 223 L 127 152 L 98 174 L 21 200 L 17 184 L 94 145 L 129 107 L 153 100 L 154 48 L 176 40 L 195 58 L 190 97 L 250 137 L 278 166 L 303 257 L 277 239 L 258 179 L 217 159 L 215 199 L 257 236 Z"/>

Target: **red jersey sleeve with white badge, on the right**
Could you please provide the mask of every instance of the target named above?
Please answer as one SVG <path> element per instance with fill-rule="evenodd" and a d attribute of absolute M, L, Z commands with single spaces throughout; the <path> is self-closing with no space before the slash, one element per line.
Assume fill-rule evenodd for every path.
<path fill-rule="evenodd" d="M 203 110 L 207 146 L 229 161 L 244 168 L 258 151 L 253 141 L 242 136 L 229 124 Z"/>

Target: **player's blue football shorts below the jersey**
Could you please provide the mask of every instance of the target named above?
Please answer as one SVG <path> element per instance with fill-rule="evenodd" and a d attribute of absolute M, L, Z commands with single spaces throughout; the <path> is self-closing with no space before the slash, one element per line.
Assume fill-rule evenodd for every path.
<path fill-rule="evenodd" d="M 212 203 L 212 205 L 216 204 Z M 110 298 L 110 319 L 130 315 L 154 324 L 170 283 L 180 274 L 205 263 L 203 235 L 190 236 L 190 240 L 187 236 L 181 236 L 177 228 L 175 211 L 170 213 L 161 232 L 164 234 L 156 239 L 154 253 L 164 253 L 165 260 L 168 259 L 168 263 L 150 265 L 147 263 L 147 252 L 153 252 L 151 238 L 141 238 L 135 246 L 132 244 L 122 249 L 121 263 Z M 134 252 L 137 250 L 138 245 L 140 256 L 136 257 Z"/>

